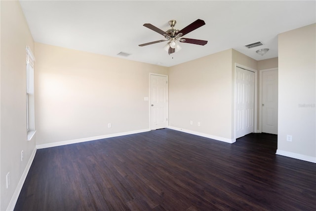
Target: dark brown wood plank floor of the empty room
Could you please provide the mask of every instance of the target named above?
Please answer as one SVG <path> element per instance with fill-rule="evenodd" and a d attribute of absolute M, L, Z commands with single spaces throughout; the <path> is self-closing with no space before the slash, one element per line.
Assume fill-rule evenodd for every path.
<path fill-rule="evenodd" d="M 173 130 L 37 151 L 16 211 L 316 211 L 316 164 L 277 136 L 234 144 Z"/>

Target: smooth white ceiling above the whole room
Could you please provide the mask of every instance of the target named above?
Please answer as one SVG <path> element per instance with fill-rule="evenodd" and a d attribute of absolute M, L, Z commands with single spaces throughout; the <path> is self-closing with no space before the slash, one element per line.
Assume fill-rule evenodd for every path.
<path fill-rule="evenodd" d="M 36 42 L 93 52 L 112 57 L 171 67 L 233 48 L 255 60 L 277 57 L 277 35 L 316 22 L 316 1 L 212 1 L 212 0 L 21 0 L 23 12 Z M 168 55 L 164 39 L 143 26 L 183 29 L 197 19 L 205 25 L 185 35 L 208 40 L 204 46 L 181 43 L 182 50 Z M 247 49 L 246 44 L 264 45 Z M 270 50 L 264 56 L 256 53 Z M 128 57 L 118 56 L 127 52 Z"/>

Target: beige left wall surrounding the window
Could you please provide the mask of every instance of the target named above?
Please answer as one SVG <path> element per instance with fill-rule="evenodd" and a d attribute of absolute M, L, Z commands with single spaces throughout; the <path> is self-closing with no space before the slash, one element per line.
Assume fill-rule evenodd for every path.
<path fill-rule="evenodd" d="M 0 1 L 0 210 L 6 210 L 35 149 L 26 131 L 26 46 L 34 41 L 18 1 Z M 21 161 L 21 150 L 24 160 Z M 6 189 L 6 174 L 10 185 Z"/>

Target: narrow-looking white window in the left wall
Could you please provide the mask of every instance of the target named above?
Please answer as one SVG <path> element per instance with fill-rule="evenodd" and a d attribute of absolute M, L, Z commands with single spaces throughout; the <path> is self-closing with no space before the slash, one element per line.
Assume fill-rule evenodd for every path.
<path fill-rule="evenodd" d="M 35 130 L 34 106 L 34 62 L 35 58 L 29 47 L 26 48 L 26 129 L 27 139 L 30 141 Z"/>

